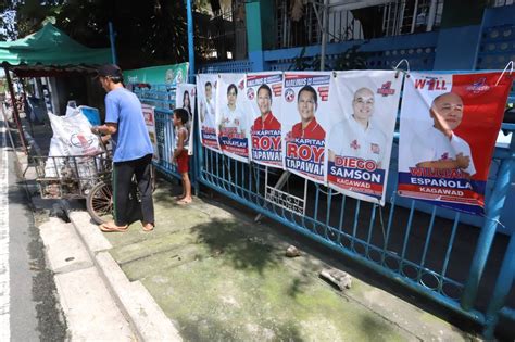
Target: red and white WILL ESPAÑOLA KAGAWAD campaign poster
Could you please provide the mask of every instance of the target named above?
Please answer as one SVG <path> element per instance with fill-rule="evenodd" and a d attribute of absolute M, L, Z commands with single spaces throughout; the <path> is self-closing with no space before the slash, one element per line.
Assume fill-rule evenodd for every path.
<path fill-rule="evenodd" d="M 501 73 L 411 73 L 401 109 L 399 194 L 482 214 L 511 85 Z"/>

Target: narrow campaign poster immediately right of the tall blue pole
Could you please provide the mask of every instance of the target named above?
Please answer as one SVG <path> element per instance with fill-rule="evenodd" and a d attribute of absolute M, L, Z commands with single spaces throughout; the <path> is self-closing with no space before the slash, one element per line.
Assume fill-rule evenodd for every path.
<path fill-rule="evenodd" d="M 200 142 L 205 148 L 219 151 L 216 137 L 216 89 L 218 74 L 197 75 L 197 93 L 199 101 Z"/>

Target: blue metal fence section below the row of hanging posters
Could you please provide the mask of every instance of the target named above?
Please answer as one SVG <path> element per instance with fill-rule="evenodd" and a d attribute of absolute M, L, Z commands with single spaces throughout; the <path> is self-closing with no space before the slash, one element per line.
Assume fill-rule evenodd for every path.
<path fill-rule="evenodd" d="M 497 195 L 490 199 L 489 212 L 500 203 L 499 198 L 505 198 L 506 193 L 499 189 L 499 185 L 505 187 L 506 179 L 515 173 L 513 155 L 507 154 L 507 151 L 498 151 L 495 156 L 503 166 L 497 177 L 498 189 L 493 192 Z M 430 214 L 422 213 L 415 208 L 414 200 L 411 200 L 410 208 L 398 206 L 394 193 L 389 194 L 390 203 L 380 207 L 310 181 L 306 213 L 299 215 L 267 201 L 265 179 L 267 173 L 271 177 L 271 169 L 238 162 L 200 147 L 198 155 L 201 159 L 199 181 L 203 185 L 478 324 L 487 324 L 485 312 L 489 299 L 483 296 L 476 301 L 476 294 L 480 289 L 479 280 L 485 282 L 481 289 L 486 292 L 490 292 L 488 284 L 501 281 L 486 267 L 499 212 L 492 213 L 479 231 L 462 223 L 466 214 L 455 213 L 452 219 L 441 218 L 439 212 L 443 210 L 434 206 Z M 272 178 L 277 180 L 279 176 L 273 175 Z M 302 198 L 304 181 L 290 176 L 285 185 L 286 191 Z M 498 238 L 507 240 L 507 237 Z M 507 255 L 505 243 L 501 244 L 497 252 Z M 470 245 L 477 245 L 475 253 Z M 495 261 L 489 263 L 498 264 Z M 505 277 L 499 279 L 506 281 Z M 469 307 L 465 309 L 462 304 L 469 304 Z"/>

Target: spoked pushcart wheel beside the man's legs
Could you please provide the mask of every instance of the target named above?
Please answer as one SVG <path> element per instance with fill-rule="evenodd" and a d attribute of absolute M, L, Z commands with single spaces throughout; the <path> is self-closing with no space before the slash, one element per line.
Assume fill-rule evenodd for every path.
<path fill-rule="evenodd" d="M 113 188 L 103 181 L 97 183 L 88 193 L 86 207 L 91 218 L 98 224 L 113 219 Z"/>

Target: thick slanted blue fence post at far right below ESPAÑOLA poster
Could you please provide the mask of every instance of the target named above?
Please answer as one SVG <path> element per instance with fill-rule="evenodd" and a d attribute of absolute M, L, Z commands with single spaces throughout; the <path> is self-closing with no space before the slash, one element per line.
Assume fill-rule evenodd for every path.
<path fill-rule="evenodd" d="M 504 159 L 501 163 L 501 168 L 495 179 L 495 186 L 490 197 L 490 201 L 487 206 L 487 216 L 485 224 L 479 235 L 479 240 L 474 253 L 474 258 L 468 273 L 468 279 L 463 290 L 461 300 L 462 308 L 470 311 L 474 307 L 476 301 L 479 281 L 481 280 L 485 265 L 487 264 L 488 254 L 492 246 L 493 237 L 495 236 L 495 228 L 498 226 L 499 217 L 504 207 L 507 193 L 510 192 L 511 182 L 514 175 L 515 168 L 515 139 L 512 139 L 510 145 L 511 155 Z"/>

